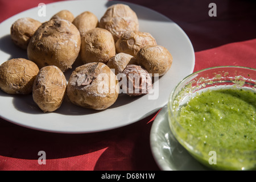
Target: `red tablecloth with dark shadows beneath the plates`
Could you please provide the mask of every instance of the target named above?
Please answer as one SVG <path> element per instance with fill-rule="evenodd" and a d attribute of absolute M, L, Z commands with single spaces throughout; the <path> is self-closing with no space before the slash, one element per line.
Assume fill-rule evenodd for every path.
<path fill-rule="evenodd" d="M 195 49 L 195 71 L 218 65 L 256 68 L 254 1 L 125 1 L 158 11 L 179 24 Z M 55 1 L 0 0 L 0 22 L 42 2 Z M 210 17 L 212 2 L 217 5 L 217 16 Z M 159 170 L 149 142 L 156 114 L 91 134 L 47 133 L 0 119 L 0 170 Z M 38 164 L 39 151 L 46 151 L 46 165 Z"/>

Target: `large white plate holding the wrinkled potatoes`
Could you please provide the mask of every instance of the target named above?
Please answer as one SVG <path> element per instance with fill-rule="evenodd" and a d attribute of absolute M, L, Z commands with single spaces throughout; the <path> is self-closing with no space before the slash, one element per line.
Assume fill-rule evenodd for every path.
<path fill-rule="evenodd" d="M 39 7 L 12 16 L 0 24 L 0 64 L 12 58 L 27 58 L 26 51 L 14 46 L 10 39 L 10 27 L 18 18 L 31 17 L 45 22 L 60 10 L 67 9 L 75 16 L 91 11 L 98 19 L 107 7 L 125 3 L 139 18 L 139 30 L 150 32 L 159 45 L 166 47 L 173 56 L 173 64 L 166 75 L 155 81 L 154 93 L 130 98 L 120 94 L 114 105 L 103 111 L 83 109 L 67 100 L 53 113 L 43 113 L 32 96 L 10 96 L 0 91 L 0 115 L 7 121 L 31 129 L 56 133 L 92 133 L 115 129 L 139 121 L 166 105 L 174 86 L 193 72 L 195 53 L 188 36 L 172 20 L 146 7 L 115 1 L 63 1 L 46 5 L 46 16 L 38 15 Z M 42 9 L 41 9 L 42 10 Z M 68 77 L 71 71 L 65 73 Z M 159 94 L 157 92 L 159 90 Z"/>

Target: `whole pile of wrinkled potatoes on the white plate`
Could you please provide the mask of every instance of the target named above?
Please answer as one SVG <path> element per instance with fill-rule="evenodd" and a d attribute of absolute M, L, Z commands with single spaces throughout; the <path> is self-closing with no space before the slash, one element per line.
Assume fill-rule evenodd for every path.
<path fill-rule="evenodd" d="M 148 32 L 139 31 L 137 14 L 127 5 L 115 4 L 100 20 L 89 11 L 74 16 L 62 10 L 47 22 L 20 18 L 11 26 L 11 39 L 27 50 L 27 59 L 17 58 L 0 66 L 0 88 L 9 94 L 30 94 L 43 112 L 60 107 L 67 94 L 69 101 L 81 107 L 103 110 L 118 98 L 118 74 L 129 73 L 147 78 L 162 76 L 172 65 L 171 53 L 156 43 Z M 76 60 L 69 80 L 64 72 Z M 105 77 L 106 76 L 106 77 Z M 149 88 L 142 88 L 141 96 Z M 134 84 L 134 83 L 133 83 Z M 123 86 L 125 87 L 125 86 Z M 128 93 L 127 93 L 128 94 Z"/>

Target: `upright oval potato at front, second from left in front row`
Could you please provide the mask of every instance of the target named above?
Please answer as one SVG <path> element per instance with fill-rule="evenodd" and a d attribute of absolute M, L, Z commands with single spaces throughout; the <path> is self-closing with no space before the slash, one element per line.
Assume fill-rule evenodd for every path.
<path fill-rule="evenodd" d="M 55 111 L 63 102 L 66 88 L 67 80 L 58 67 L 43 67 L 34 81 L 33 100 L 44 113 Z"/>

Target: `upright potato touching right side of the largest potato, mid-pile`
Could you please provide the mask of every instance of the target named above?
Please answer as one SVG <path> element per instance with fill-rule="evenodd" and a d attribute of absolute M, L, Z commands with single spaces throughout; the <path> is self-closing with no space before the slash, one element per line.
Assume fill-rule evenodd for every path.
<path fill-rule="evenodd" d="M 93 28 L 81 35 L 80 57 L 84 64 L 107 63 L 115 55 L 115 43 L 112 34 L 103 28 Z"/>

